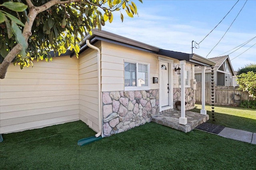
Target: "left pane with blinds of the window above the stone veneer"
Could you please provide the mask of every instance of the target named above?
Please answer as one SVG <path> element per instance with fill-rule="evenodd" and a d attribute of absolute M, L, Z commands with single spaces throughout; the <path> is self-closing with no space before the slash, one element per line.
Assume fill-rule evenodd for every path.
<path fill-rule="evenodd" d="M 124 86 L 136 86 L 136 64 L 124 62 Z"/>

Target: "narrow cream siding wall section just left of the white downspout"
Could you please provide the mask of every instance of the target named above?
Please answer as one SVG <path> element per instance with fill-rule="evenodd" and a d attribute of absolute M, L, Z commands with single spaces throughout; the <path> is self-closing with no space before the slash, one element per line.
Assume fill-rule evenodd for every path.
<path fill-rule="evenodd" d="M 99 47 L 100 43 L 96 43 Z M 87 49 L 79 55 L 80 120 L 98 132 L 98 66 L 97 51 Z M 88 121 L 89 120 L 89 121 Z"/>

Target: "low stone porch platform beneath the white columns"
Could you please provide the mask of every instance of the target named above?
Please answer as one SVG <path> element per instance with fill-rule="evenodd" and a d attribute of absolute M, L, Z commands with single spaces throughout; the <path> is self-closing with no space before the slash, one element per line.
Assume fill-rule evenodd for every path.
<path fill-rule="evenodd" d="M 160 112 L 159 115 L 153 116 L 152 121 L 160 125 L 172 127 L 174 129 L 187 133 L 192 131 L 192 129 L 194 129 L 198 125 L 209 120 L 209 115 L 201 115 L 200 113 L 186 111 L 188 124 L 181 125 L 179 123 L 179 117 L 180 117 L 180 111 L 178 110 L 164 111 L 164 112 Z"/>

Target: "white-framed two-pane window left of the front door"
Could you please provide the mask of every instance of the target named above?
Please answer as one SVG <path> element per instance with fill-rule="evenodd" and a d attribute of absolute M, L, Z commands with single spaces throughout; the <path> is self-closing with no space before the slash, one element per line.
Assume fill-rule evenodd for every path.
<path fill-rule="evenodd" d="M 148 90 L 149 64 L 124 61 L 124 90 Z"/>

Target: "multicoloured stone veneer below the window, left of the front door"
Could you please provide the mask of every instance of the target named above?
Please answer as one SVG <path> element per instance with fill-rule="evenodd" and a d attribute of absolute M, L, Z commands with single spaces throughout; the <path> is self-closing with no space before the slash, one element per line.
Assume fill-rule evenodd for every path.
<path fill-rule="evenodd" d="M 159 114 L 159 90 L 102 92 L 103 137 L 127 131 Z"/>

